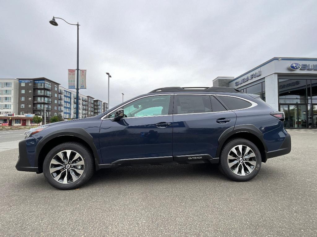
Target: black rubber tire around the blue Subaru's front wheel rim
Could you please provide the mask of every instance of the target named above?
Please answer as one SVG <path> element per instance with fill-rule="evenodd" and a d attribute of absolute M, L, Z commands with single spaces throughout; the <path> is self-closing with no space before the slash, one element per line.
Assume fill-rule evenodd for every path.
<path fill-rule="evenodd" d="M 52 176 L 52 175 L 55 175 L 56 173 L 51 174 L 51 172 L 50 172 L 50 167 L 52 165 L 51 164 L 52 159 L 54 157 L 56 158 L 57 157 L 56 155 L 59 152 L 65 151 L 65 150 L 72 150 L 72 151 L 78 153 L 80 155 L 81 162 L 82 161 L 84 162 L 83 173 L 75 181 L 72 178 L 70 178 L 70 183 L 61 183 L 59 181 L 56 181 Z M 71 152 L 70 154 L 74 156 L 74 154 L 76 154 L 74 152 Z M 69 158 L 69 160 L 70 160 L 70 158 Z M 74 166 L 74 167 L 78 167 L 78 166 Z M 81 166 L 79 166 L 79 167 L 81 167 Z M 71 171 L 71 169 L 69 169 L 69 172 Z M 64 168 L 62 168 L 61 170 L 63 171 Z M 74 170 L 74 168 L 73 168 L 73 170 Z M 57 172 L 60 172 L 60 171 L 57 171 Z M 62 189 L 62 190 L 75 189 L 75 188 L 80 187 L 84 183 L 86 183 L 94 174 L 94 156 L 91 153 L 91 151 L 81 143 L 77 143 L 77 142 L 61 143 L 61 144 L 55 146 L 46 155 L 44 162 L 43 162 L 43 173 L 44 173 L 45 178 L 49 182 L 49 184 L 52 185 L 53 187 L 55 187 L 57 189 Z M 67 171 L 66 171 L 66 173 L 67 173 Z M 73 172 L 73 174 L 74 174 L 74 172 Z M 78 173 L 76 173 L 76 174 L 78 174 Z M 61 176 L 63 176 L 63 175 L 61 175 Z M 68 177 L 73 177 L 73 176 L 69 173 Z M 64 179 L 65 179 L 65 177 L 64 177 Z"/>

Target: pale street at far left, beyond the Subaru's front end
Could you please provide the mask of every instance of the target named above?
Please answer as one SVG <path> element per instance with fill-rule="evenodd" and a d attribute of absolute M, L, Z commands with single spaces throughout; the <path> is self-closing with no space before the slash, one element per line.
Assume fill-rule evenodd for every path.
<path fill-rule="evenodd" d="M 17 148 L 19 141 L 25 137 L 25 131 L 28 131 L 28 129 L 0 131 L 0 152 Z"/>

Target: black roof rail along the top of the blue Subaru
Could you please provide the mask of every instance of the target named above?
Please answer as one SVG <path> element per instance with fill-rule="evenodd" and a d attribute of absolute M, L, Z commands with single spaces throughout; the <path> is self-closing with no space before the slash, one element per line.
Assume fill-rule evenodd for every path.
<path fill-rule="evenodd" d="M 241 90 L 238 90 L 233 87 L 222 87 L 222 86 L 213 86 L 213 87 L 162 87 L 150 91 L 149 93 L 155 92 L 179 92 L 179 91 L 202 91 L 202 92 L 230 92 L 230 93 L 243 93 Z"/>

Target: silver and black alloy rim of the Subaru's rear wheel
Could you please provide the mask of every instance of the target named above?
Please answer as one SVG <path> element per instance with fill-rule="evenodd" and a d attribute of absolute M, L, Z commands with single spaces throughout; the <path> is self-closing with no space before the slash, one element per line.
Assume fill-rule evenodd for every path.
<path fill-rule="evenodd" d="M 237 175 L 248 175 L 256 167 L 256 155 L 246 145 L 237 145 L 228 154 L 228 166 Z"/>

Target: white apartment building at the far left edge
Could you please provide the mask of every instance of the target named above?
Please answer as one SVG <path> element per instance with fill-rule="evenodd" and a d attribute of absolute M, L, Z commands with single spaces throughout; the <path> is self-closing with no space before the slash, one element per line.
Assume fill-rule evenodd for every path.
<path fill-rule="evenodd" d="M 18 113 L 19 81 L 0 80 L 0 115 Z"/>

